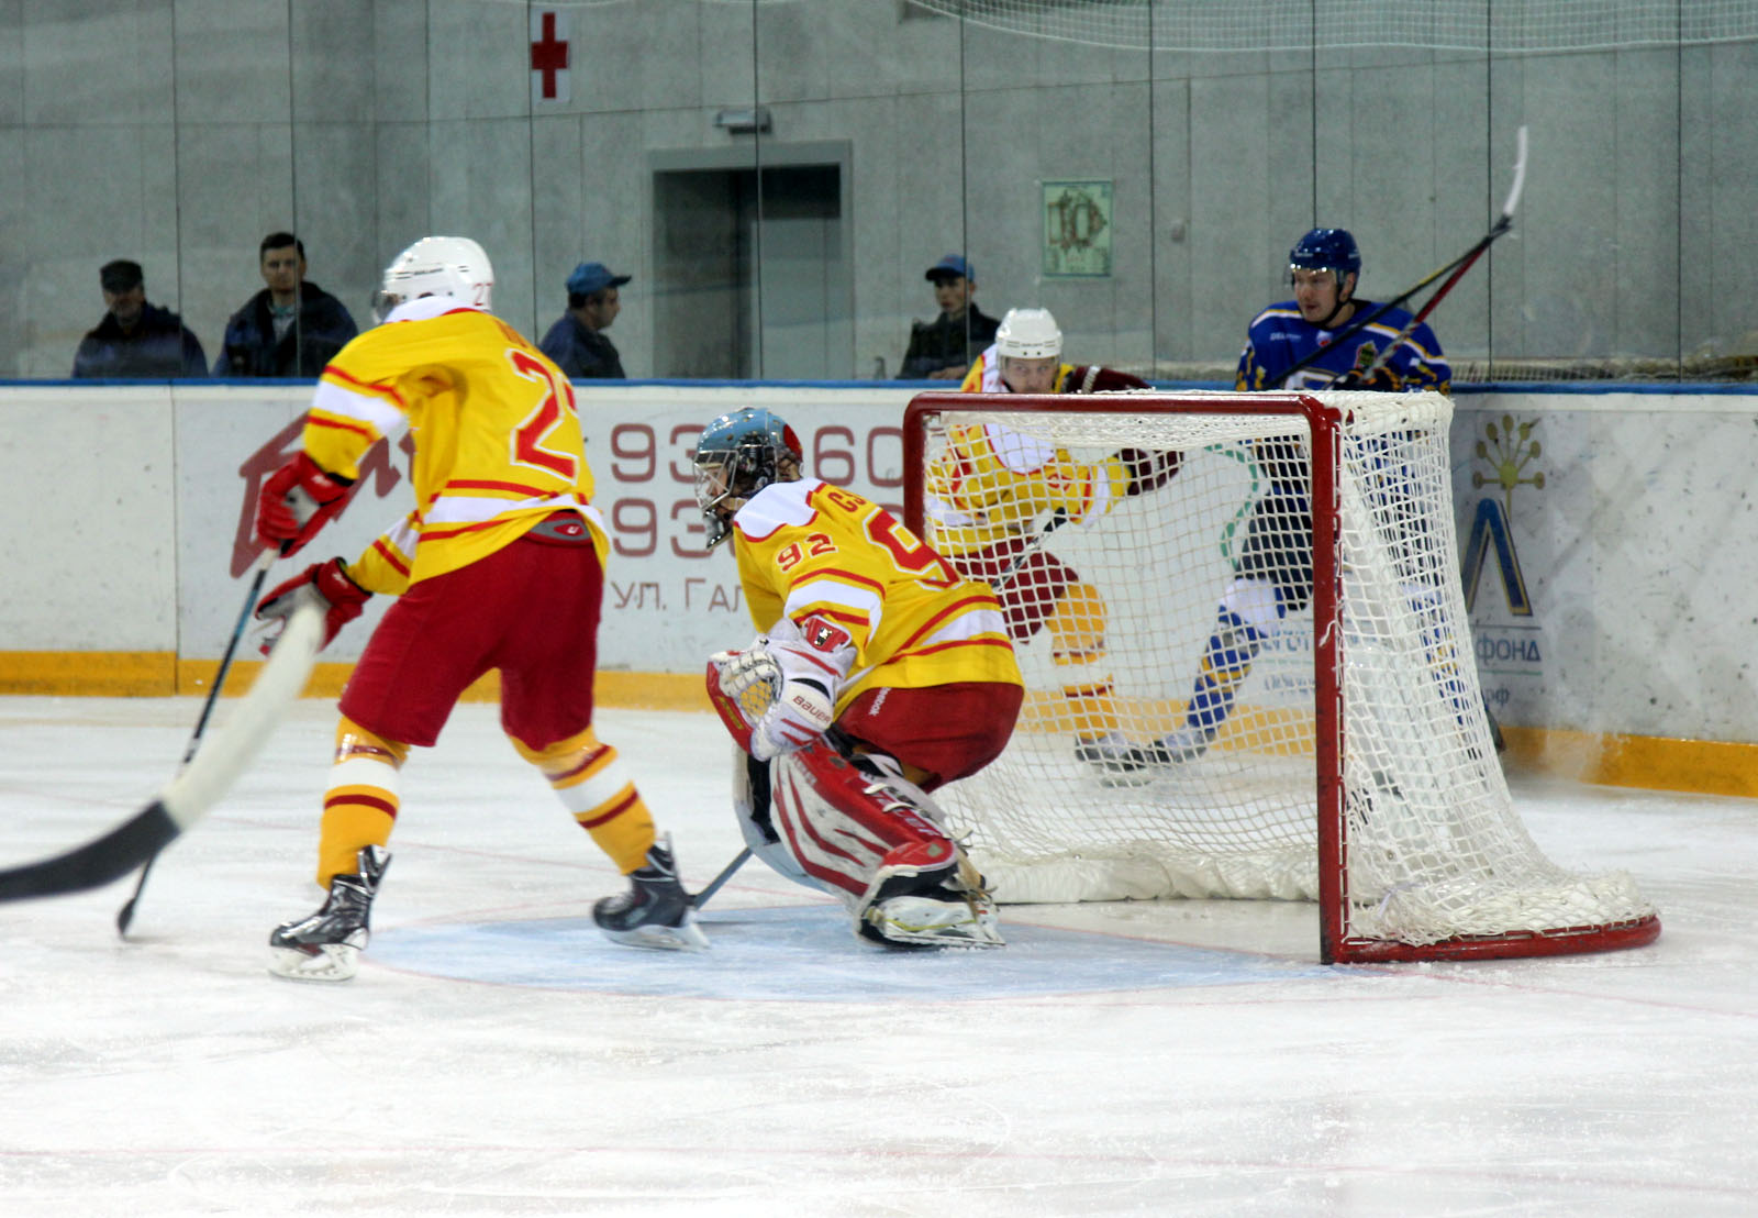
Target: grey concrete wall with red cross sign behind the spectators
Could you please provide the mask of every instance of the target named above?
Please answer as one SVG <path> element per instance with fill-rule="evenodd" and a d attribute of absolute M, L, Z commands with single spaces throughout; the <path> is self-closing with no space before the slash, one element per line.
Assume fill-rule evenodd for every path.
<path fill-rule="evenodd" d="M 1529 55 L 1146 51 L 928 16 L 902 0 L 550 5 L 570 97 L 533 100 L 541 5 L 482 0 L 0 4 L 0 377 L 63 377 L 97 266 L 213 357 L 292 227 L 364 313 L 408 241 L 478 238 L 499 312 L 559 315 L 580 259 L 635 275 L 612 338 L 654 366 L 656 153 L 851 148 L 853 357 L 895 371 L 923 269 L 963 248 L 979 303 L 1048 304 L 1079 359 L 1231 361 L 1313 224 L 1362 290 L 1468 248 L 1531 128 L 1519 225 L 1436 312 L 1456 356 L 1679 357 L 1758 345 L 1758 44 Z M 1234 5 L 1236 16 L 1250 5 Z M 1185 5 L 1160 4 L 1173 21 Z M 1489 5 L 1517 21 L 1522 5 Z M 1498 48 L 1501 42 L 1498 40 Z M 763 106 L 766 136 L 721 109 Z M 1041 181 L 1115 187 L 1115 271 L 1041 275 Z"/>

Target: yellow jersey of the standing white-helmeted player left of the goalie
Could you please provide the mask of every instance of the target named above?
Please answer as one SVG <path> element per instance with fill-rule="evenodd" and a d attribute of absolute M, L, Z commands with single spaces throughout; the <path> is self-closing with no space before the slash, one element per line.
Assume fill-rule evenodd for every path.
<path fill-rule="evenodd" d="M 367 449 L 404 428 L 415 510 L 348 567 L 362 588 L 401 593 L 468 567 L 559 509 L 585 517 L 605 561 L 573 385 L 512 326 L 450 297 L 399 304 L 323 370 L 304 447 L 353 479 Z"/>

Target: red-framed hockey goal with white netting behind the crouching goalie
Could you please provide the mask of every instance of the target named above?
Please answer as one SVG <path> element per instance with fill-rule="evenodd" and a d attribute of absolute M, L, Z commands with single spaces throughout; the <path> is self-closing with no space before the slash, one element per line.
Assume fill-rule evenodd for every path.
<path fill-rule="evenodd" d="M 909 523 L 1002 593 L 1027 681 L 1007 752 L 937 796 L 997 899 L 1310 899 L 1326 961 L 1660 933 L 1628 875 L 1556 866 L 1514 810 L 1459 588 L 1450 417 L 1438 394 L 911 403 Z M 1266 530 L 1253 509 L 1285 512 L 1290 479 L 1311 523 Z M 1201 752 L 1155 748 L 1194 720 Z"/>

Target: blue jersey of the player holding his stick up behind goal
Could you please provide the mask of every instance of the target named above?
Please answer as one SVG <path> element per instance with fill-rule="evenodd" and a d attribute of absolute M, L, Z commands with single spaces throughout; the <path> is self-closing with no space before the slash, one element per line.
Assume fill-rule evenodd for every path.
<path fill-rule="evenodd" d="M 1436 393 L 1452 391 L 1452 368 L 1442 356 L 1440 340 L 1427 322 L 1420 322 L 1403 341 L 1398 336 L 1410 324 L 1410 313 L 1391 308 L 1385 317 L 1371 326 L 1357 329 L 1345 341 L 1336 336 L 1348 329 L 1350 322 L 1371 317 L 1380 306 L 1373 301 L 1355 301 L 1355 312 L 1348 322 L 1334 329 L 1318 329 L 1304 317 L 1294 301 L 1271 304 L 1252 319 L 1246 331 L 1245 350 L 1239 352 L 1239 375 L 1234 382 L 1238 389 L 1275 389 L 1276 377 L 1306 359 L 1322 347 L 1329 347 L 1306 368 L 1287 378 L 1282 389 L 1326 389 L 1338 377 L 1350 371 L 1366 371 L 1389 345 L 1398 343 L 1385 368 L 1391 384 L 1375 387 L 1389 389 L 1433 389 Z"/>

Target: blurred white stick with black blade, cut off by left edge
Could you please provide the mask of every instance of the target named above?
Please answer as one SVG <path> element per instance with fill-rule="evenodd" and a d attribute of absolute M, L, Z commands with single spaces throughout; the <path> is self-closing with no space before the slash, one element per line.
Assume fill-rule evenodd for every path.
<path fill-rule="evenodd" d="M 274 734 L 281 715 L 311 676 L 322 642 L 323 609 L 306 602 L 288 618 L 250 693 L 195 760 L 109 833 L 65 854 L 0 871 L 0 901 L 102 887 L 171 845 L 207 815 Z"/>

